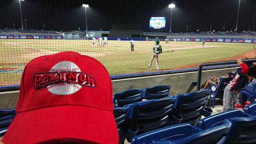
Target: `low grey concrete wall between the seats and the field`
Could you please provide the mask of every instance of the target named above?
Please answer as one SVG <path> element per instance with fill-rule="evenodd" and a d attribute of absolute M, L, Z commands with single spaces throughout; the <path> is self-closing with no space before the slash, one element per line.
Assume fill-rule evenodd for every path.
<path fill-rule="evenodd" d="M 214 77 L 220 77 L 224 73 L 235 71 L 236 68 L 203 70 L 201 84 L 209 79 L 211 74 L 214 74 Z M 159 84 L 170 84 L 170 95 L 189 93 L 196 91 L 196 86 L 192 85 L 192 82 L 197 80 L 197 74 L 198 72 L 194 71 L 112 80 L 113 93 L 131 88 L 152 87 Z M 0 92 L 0 108 L 16 107 L 18 94 L 18 90 Z"/>

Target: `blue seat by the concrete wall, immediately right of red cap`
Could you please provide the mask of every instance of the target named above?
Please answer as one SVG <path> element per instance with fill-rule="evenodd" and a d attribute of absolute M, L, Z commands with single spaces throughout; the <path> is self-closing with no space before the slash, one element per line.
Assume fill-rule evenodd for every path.
<path fill-rule="evenodd" d="M 121 107 L 125 104 L 141 101 L 143 88 L 129 89 L 123 92 L 114 93 L 114 100 L 117 100 L 118 106 Z"/>

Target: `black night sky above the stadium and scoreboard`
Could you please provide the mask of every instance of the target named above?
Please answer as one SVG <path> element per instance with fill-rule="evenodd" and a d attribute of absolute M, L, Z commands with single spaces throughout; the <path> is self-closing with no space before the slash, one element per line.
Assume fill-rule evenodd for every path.
<path fill-rule="evenodd" d="M 165 28 L 170 28 L 168 4 L 176 5 L 172 11 L 172 32 L 234 30 L 239 0 L 24 0 L 21 2 L 22 19 L 26 29 L 85 30 L 85 8 L 88 30 L 109 30 L 111 24 L 140 24 L 151 31 L 149 18 L 166 17 Z M 256 0 L 241 0 L 237 31 L 251 30 Z M 256 18 L 255 20 L 256 21 Z M 0 28 L 21 28 L 19 0 L 0 0 Z M 255 22 L 256 23 L 256 22 Z M 256 24 L 254 23 L 254 31 Z M 23 20 L 25 29 L 25 22 Z"/>

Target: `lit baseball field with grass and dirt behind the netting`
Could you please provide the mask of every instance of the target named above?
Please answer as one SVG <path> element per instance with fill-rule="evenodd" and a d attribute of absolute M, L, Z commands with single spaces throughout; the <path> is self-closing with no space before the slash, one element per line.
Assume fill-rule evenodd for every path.
<path fill-rule="evenodd" d="M 109 74 L 154 71 L 148 68 L 154 41 L 135 41 L 130 51 L 128 40 L 108 40 L 107 45 L 92 45 L 78 39 L 0 39 L 0 85 L 19 83 L 22 70 L 31 59 L 61 51 L 76 51 L 99 60 Z M 159 70 L 197 67 L 208 61 L 254 58 L 253 43 L 160 41 Z M 38 63 L 40 64 L 40 63 Z"/>

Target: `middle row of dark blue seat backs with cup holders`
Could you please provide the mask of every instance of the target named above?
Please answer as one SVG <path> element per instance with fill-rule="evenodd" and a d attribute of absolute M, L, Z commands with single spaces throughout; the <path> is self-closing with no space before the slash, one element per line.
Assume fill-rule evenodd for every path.
<path fill-rule="evenodd" d="M 189 123 L 196 125 L 201 115 L 212 110 L 205 107 L 209 89 L 167 96 L 114 107 L 119 143 L 130 141 L 135 135 L 169 125 Z"/>

